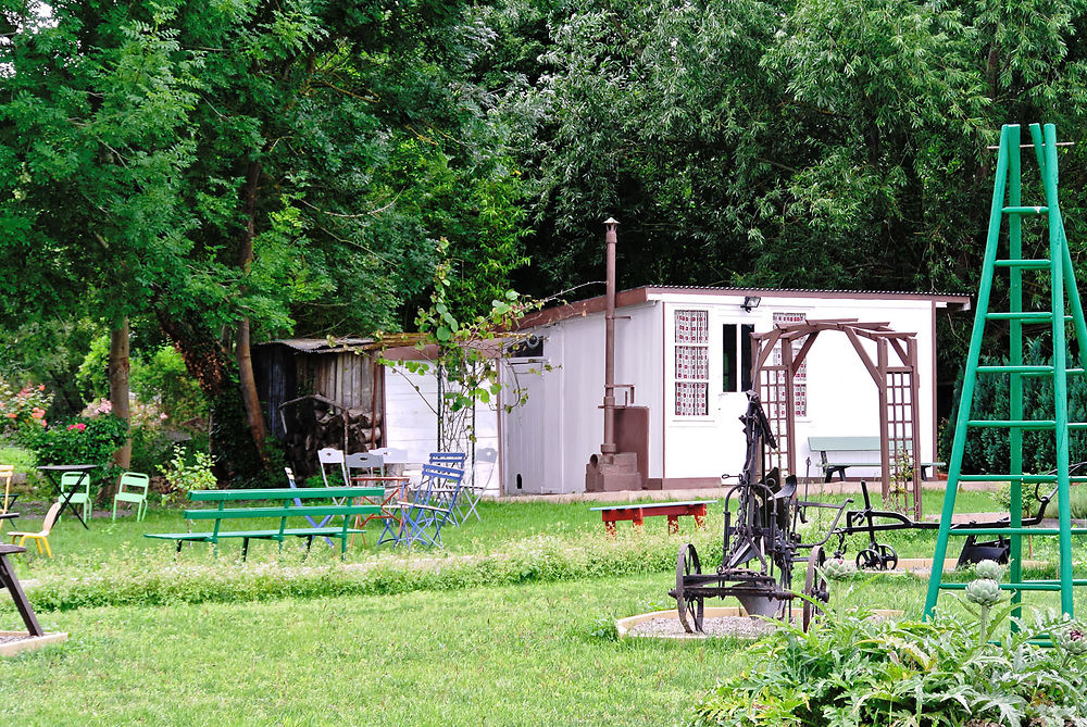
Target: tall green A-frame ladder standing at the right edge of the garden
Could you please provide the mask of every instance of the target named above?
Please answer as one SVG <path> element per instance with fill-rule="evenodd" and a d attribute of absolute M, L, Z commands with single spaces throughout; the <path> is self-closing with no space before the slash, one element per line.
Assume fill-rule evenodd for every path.
<path fill-rule="evenodd" d="M 1035 155 L 1038 160 L 1039 174 L 1046 195 L 1046 203 L 1041 206 L 1024 206 L 1021 199 L 1020 175 L 1020 127 L 1007 125 L 1000 131 L 1000 147 L 997 160 L 997 175 L 992 187 L 992 209 L 989 213 L 989 231 L 985 243 L 985 262 L 982 272 L 982 285 L 977 293 L 977 310 L 974 316 L 974 331 L 970 339 L 970 353 L 966 359 L 966 373 L 962 381 L 962 399 L 959 402 L 959 415 L 955 419 L 954 446 L 951 452 L 951 464 L 948 471 L 947 492 L 944 497 L 944 511 L 940 517 L 939 537 L 936 540 L 936 552 L 933 560 L 933 575 L 928 581 L 928 597 L 925 601 L 925 617 L 930 617 L 940 589 L 962 589 L 965 584 L 941 584 L 942 563 L 947 556 L 950 536 L 969 535 L 1007 535 L 1011 540 L 1011 561 L 1009 582 L 1001 588 L 1012 591 L 1013 602 L 1022 601 L 1023 591 L 1060 591 L 1061 611 L 1073 616 L 1073 586 L 1087 585 L 1087 580 L 1072 578 L 1072 536 L 1087 535 L 1087 528 L 1072 529 L 1072 514 L 1069 504 L 1069 487 L 1072 481 L 1087 481 L 1087 477 L 1071 477 L 1069 475 L 1069 431 L 1087 429 L 1087 423 L 1070 423 L 1067 405 L 1067 377 L 1083 375 L 1087 372 L 1087 326 L 1084 325 L 1084 311 L 1076 288 L 1075 275 L 1072 268 L 1072 255 L 1064 234 L 1064 223 L 1061 220 L 1061 209 L 1057 199 L 1057 129 L 1052 124 L 1046 124 L 1045 131 L 1038 124 L 1030 125 L 1030 138 L 1034 142 Z M 1005 200 L 1007 197 L 1007 200 Z M 1030 260 L 1023 258 L 1023 217 L 1045 215 L 1049 228 L 1049 259 Z M 1008 217 L 1008 256 L 999 259 L 997 248 L 1000 240 L 1000 228 L 1004 217 Z M 1005 312 L 989 311 L 989 294 L 992 291 L 994 276 L 997 271 L 1008 271 L 1009 309 Z M 1023 310 L 1023 272 L 1049 271 L 1051 299 L 1049 311 Z M 1040 280 L 1039 280 L 1040 283 Z M 1071 315 L 1069 315 L 1071 313 Z M 1067 322 L 1075 328 L 1075 337 L 1079 342 L 1079 367 L 1067 365 L 1067 342 L 1065 329 Z M 1007 322 L 1009 330 L 1008 365 L 980 366 L 978 358 L 982 352 L 982 337 L 987 323 L 1002 324 Z M 1052 365 L 1027 366 L 1023 364 L 1023 325 L 1049 323 L 1052 329 L 1053 359 Z M 974 383 L 978 376 L 1005 376 L 1009 381 L 1010 418 L 1002 421 L 972 418 L 971 404 L 974 397 Z M 1027 377 L 1052 377 L 1053 381 L 1053 418 L 1027 421 L 1023 418 L 1023 383 Z M 975 415 L 977 416 L 977 415 Z M 962 474 L 962 456 L 966 443 L 966 430 L 973 427 L 996 427 L 1007 429 L 1010 443 L 1011 472 L 999 474 Z M 1051 475 L 1032 475 L 1023 473 L 1023 431 L 1025 429 L 1052 430 L 1057 446 L 1057 473 Z M 1002 529 L 984 526 L 954 527 L 951 516 L 954 513 L 955 494 L 960 482 L 970 481 L 1010 481 L 1011 527 Z M 1037 482 L 1057 482 L 1057 503 L 1059 519 L 1057 528 L 1023 527 L 1023 485 Z M 1024 535 L 1058 536 L 1060 549 L 1059 578 L 1047 580 L 1023 580 L 1022 541 Z"/>

